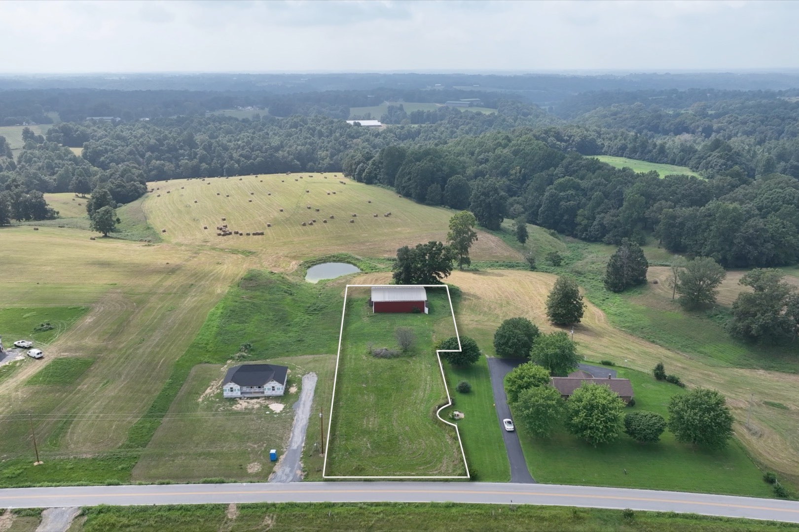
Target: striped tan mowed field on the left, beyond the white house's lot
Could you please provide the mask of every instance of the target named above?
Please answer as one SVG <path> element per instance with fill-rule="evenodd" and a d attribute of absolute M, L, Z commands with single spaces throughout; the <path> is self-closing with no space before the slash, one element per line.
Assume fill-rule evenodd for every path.
<path fill-rule="evenodd" d="M 90 309 L 46 350 L 4 380 L 0 415 L 32 412 L 38 438 L 54 453 L 91 453 L 117 447 L 149 407 L 209 310 L 250 262 L 239 254 L 173 245 L 147 246 L 85 231 L 9 227 L 0 293 L 3 305 Z M 21 312 L 24 312 L 21 310 Z M 24 382 L 60 357 L 95 361 L 69 384 L 46 394 Z M 63 420 L 59 418 L 67 418 Z M 30 451 L 26 423 L 3 424 L 3 456 Z"/>

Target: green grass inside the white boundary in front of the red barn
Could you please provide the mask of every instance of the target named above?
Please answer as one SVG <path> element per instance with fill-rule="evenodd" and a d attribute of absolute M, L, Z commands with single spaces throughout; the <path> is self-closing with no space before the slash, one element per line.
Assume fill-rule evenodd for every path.
<path fill-rule="evenodd" d="M 447 393 L 433 346 L 455 336 L 447 293 L 427 289 L 429 314 L 372 313 L 368 294 L 368 288 L 348 294 L 327 474 L 465 475 L 454 429 L 435 416 Z M 415 332 L 407 353 L 392 359 L 368 353 L 370 343 L 397 348 L 399 326 Z"/>

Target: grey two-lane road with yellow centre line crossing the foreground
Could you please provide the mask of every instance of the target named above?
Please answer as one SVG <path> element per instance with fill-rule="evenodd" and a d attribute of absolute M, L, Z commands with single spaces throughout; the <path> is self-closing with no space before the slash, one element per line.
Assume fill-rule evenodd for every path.
<path fill-rule="evenodd" d="M 799 523 L 799 502 L 554 484 L 330 482 L 28 487 L 0 490 L 0 508 L 231 502 L 481 502 L 691 512 Z"/>

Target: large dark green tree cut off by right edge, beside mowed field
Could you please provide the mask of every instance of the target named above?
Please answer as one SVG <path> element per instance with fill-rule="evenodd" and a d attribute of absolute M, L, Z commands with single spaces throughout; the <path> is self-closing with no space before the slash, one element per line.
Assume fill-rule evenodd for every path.
<path fill-rule="evenodd" d="M 776 343 L 797 331 L 797 291 L 785 283 L 779 270 L 751 270 L 738 281 L 752 292 L 741 292 L 733 302 L 729 333 L 749 341 Z"/>

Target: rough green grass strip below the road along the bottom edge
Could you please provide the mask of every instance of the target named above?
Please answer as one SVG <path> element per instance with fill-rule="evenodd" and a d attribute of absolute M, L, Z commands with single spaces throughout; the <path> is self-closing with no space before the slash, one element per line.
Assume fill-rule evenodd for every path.
<path fill-rule="evenodd" d="M 674 512 L 636 511 L 624 518 L 622 510 L 570 506 L 521 506 L 441 503 L 260 503 L 183 506 L 92 506 L 81 511 L 70 532 L 150 532 L 156 530 L 637 530 L 741 532 L 799 530 L 783 522 L 707 517 Z"/>

